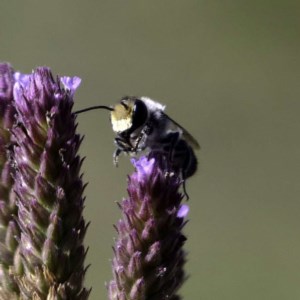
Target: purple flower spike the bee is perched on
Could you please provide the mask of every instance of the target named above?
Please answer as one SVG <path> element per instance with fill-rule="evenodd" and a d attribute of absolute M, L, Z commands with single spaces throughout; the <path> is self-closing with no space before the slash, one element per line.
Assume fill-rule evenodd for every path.
<path fill-rule="evenodd" d="M 180 299 L 187 208 L 181 206 L 179 175 L 162 157 L 151 156 L 132 160 L 136 171 L 129 177 L 129 197 L 120 204 L 110 300 Z"/>

